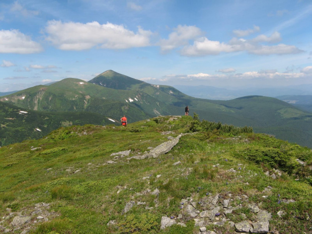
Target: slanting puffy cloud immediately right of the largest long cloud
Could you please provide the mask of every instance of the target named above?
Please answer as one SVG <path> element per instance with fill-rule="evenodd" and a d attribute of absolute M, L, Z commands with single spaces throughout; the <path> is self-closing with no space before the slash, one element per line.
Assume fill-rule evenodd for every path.
<path fill-rule="evenodd" d="M 203 35 L 203 32 L 196 26 L 179 25 L 173 31 L 168 39 L 162 39 L 160 41 L 163 52 L 187 45 L 189 40 L 194 40 Z"/>

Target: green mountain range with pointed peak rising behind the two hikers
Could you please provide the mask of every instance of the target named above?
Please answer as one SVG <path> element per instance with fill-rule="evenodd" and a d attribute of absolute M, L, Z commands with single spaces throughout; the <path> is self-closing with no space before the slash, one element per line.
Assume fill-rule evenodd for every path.
<path fill-rule="evenodd" d="M 97 113 L 113 120 L 125 114 L 128 122 L 184 115 L 188 105 L 190 113 L 196 112 L 202 119 L 252 126 L 255 132 L 312 147 L 312 114 L 281 100 L 263 96 L 229 101 L 194 98 L 173 87 L 148 84 L 112 70 L 89 82 L 67 78 L 3 96 L 0 101 L 25 110 Z"/>

